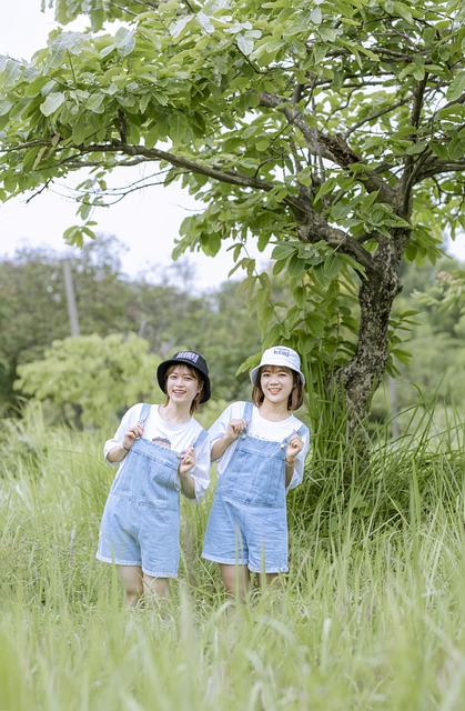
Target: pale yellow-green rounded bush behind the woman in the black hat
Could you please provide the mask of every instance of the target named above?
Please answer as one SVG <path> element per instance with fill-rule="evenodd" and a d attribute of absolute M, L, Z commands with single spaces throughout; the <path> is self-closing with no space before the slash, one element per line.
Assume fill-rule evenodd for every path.
<path fill-rule="evenodd" d="M 130 334 L 70 337 L 53 341 L 41 361 L 18 367 L 14 387 L 38 401 L 50 400 L 63 422 L 95 427 L 135 402 L 160 395 L 155 382 L 160 359 L 149 343 Z"/>

